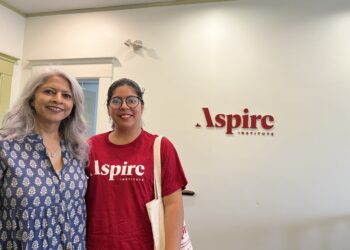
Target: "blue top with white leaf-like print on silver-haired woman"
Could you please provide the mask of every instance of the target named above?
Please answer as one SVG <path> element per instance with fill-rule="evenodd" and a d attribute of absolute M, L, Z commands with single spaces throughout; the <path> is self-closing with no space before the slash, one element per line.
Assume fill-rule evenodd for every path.
<path fill-rule="evenodd" d="M 42 137 L 0 141 L 0 249 L 85 249 L 87 177 L 61 141 L 57 174 Z"/>

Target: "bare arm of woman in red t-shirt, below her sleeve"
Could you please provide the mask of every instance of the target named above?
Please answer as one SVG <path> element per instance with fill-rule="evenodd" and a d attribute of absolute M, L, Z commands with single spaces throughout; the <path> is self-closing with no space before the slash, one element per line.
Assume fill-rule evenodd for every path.
<path fill-rule="evenodd" d="M 182 237 L 184 211 L 181 189 L 163 197 L 165 223 L 165 249 L 179 250 Z"/>

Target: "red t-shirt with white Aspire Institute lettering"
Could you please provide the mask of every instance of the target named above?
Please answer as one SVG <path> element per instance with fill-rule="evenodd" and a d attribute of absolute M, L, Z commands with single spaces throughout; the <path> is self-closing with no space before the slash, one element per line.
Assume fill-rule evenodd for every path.
<path fill-rule="evenodd" d="M 115 145 L 108 133 L 90 138 L 87 190 L 87 249 L 153 250 L 146 203 L 154 199 L 153 143 L 146 131 Z M 172 143 L 161 142 L 162 195 L 185 188 L 187 180 Z"/>

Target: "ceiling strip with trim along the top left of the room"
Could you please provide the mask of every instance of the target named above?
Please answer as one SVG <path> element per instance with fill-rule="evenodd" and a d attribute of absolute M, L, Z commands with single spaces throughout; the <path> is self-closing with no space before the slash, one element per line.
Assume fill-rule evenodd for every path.
<path fill-rule="evenodd" d="M 225 0 L 0 0 L 0 4 L 23 16 L 131 9 Z"/>

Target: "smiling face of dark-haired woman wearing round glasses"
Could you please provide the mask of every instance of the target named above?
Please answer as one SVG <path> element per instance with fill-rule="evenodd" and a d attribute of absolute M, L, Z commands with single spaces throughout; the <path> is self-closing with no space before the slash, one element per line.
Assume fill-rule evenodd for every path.
<path fill-rule="evenodd" d="M 111 99 L 114 97 L 121 98 L 123 100 L 122 105 L 119 108 L 108 105 L 108 113 L 118 131 L 133 132 L 141 128 L 143 105 L 139 102 L 134 108 L 128 107 L 125 102 L 128 96 L 137 96 L 136 91 L 128 85 L 119 86 L 113 91 Z"/>

